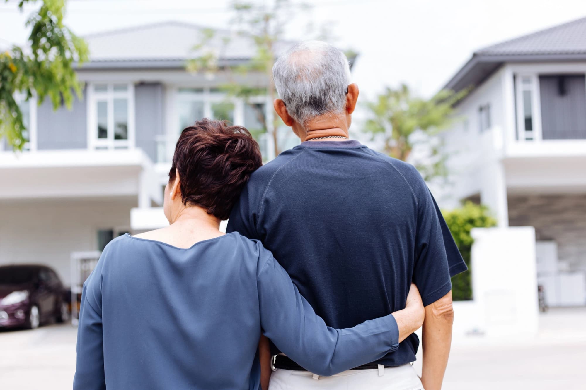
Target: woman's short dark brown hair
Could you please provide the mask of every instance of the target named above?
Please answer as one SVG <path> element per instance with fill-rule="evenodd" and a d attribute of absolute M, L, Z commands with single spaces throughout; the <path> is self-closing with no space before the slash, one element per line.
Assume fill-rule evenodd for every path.
<path fill-rule="evenodd" d="M 169 182 L 177 169 L 183 204 L 227 220 L 244 184 L 261 165 L 258 143 L 246 128 L 205 118 L 181 132 Z"/>

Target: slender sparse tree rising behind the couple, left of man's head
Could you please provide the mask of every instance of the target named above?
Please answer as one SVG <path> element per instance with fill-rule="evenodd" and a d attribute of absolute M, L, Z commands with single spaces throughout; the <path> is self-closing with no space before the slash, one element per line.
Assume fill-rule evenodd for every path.
<path fill-rule="evenodd" d="M 255 55 L 247 63 L 239 66 L 220 66 L 219 59 L 226 52 L 230 43 L 230 33 L 216 29 L 202 31 L 202 40 L 195 47 L 196 57 L 188 61 L 188 70 L 203 73 L 217 73 L 223 71 L 228 82 L 221 87 L 232 97 L 242 98 L 255 110 L 260 129 L 248 129 L 254 136 L 268 132 L 272 135 L 275 156 L 281 151 L 277 129 L 281 124 L 278 115 L 268 121 L 261 104 L 251 104 L 251 98 L 268 94 L 271 101 L 277 96 L 275 85 L 272 82 L 272 66 L 277 57 L 279 45 L 284 42 L 284 29 L 289 20 L 293 19 L 295 11 L 307 11 L 308 5 L 293 3 L 290 0 L 273 0 L 268 2 L 233 2 L 231 9 L 234 13 L 233 23 L 236 33 L 250 39 L 255 46 Z M 313 26 L 309 25 L 309 29 Z M 308 33 L 312 33 L 308 30 Z M 316 35 L 317 39 L 329 39 L 326 30 Z M 220 43 L 217 46 L 210 45 Z M 227 53 L 229 54 L 229 53 Z M 353 54 L 356 56 L 356 54 Z M 255 73 L 258 77 L 243 77 Z M 268 85 L 268 87 L 267 87 Z"/>

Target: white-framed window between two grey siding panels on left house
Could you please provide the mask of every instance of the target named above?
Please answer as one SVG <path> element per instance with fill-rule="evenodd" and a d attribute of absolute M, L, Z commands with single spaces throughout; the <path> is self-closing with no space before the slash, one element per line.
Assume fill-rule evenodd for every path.
<path fill-rule="evenodd" d="M 91 149 L 127 149 L 134 145 L 134 86 L 93 84 L 88 93 Z"/>

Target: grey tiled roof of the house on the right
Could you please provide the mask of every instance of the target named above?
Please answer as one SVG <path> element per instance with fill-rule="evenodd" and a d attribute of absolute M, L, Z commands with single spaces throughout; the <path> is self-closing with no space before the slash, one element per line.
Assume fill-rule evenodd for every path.
<path fill-rule="evenodd" d="M 444 88 L 476 87 L 507 62 L 578 60 L 586 60 L 586 18 L 480 49 Z"/>

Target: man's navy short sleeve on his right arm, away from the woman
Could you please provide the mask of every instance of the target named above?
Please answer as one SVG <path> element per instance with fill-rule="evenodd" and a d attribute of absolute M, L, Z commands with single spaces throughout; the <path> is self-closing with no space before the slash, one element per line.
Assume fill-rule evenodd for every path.
<path fill-rule="evenodd" d="M 466 269 L 440 208 L 424 184 L 417 200 L 413 271 L 413 282 L 420 290 L 423 305 L 446 295 L 452 289 L 451 277 Z"/>

